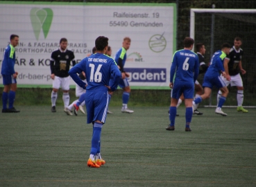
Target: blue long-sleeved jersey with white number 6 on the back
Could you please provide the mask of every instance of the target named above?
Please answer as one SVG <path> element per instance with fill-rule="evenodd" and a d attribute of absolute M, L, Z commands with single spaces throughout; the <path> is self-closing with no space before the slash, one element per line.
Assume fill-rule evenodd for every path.
<path fill-rule="evenodd" d="M 199 60 L 196 53 L 187 49 L 182 49 L 174 53 L 170 71 L 170 82 L 194 83 L 198 77 L 198 73 Z"/>

